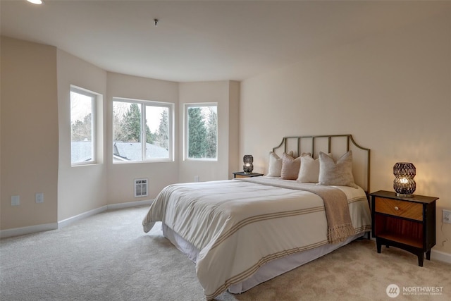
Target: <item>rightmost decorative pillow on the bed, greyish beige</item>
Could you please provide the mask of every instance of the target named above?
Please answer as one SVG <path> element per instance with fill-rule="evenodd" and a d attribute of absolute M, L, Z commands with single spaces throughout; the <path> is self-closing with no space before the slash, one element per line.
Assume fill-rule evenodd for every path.
<path fill-rule="evenodd" d="M 327 154 L 319 152 L 318 183 L 358 188 L 354 183 L 354 176 L 352 176 L 352 151 L 343 154 L 336 163 Z"/>

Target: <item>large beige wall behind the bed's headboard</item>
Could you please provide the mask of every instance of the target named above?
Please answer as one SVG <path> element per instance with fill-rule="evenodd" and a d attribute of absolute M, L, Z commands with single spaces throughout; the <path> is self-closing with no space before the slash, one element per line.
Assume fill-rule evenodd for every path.
<path fill-rule="evenodd" d="M 450 11 L 299 60 L 242 82 L 240 153 L 267 172 L 284 135 L 350 133 L 371 149 L 371 191 L 413 162 L 416 194 L 440 197 L 434 250 L 451 254 Z"/>

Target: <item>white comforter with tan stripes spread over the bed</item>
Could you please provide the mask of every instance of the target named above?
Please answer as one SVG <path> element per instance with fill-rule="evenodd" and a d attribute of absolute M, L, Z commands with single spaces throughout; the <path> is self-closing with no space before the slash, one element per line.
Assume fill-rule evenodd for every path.
<path fill-rule="evenodd" d="M 250 180 L 250 179 L 249 179 Z M 200 250 L 196 272 L 207 300 L 252 276 L 259 266 L 295 252 L 326 245 L 323 199 L 294 189 L 264 185 L 268 178 L 169 185 L 142 222 L 148 232 L 162 221 Z M 267 183 L 266 183 L 267 184 Z M 313 185 L 313 184 L 312 184 Z M 347 195 L 356 233 L 371 229 L 364 191 L 336 186 Z"/>

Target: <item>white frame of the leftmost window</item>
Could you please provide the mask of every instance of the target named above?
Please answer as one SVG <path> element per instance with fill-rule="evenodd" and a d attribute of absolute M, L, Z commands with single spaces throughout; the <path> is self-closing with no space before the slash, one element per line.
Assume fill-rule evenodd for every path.
<path fill-rule="evenodd" d="M 84 95 L 86 97 L 91 98 L 91 157 L 92 159 L 89 161 L 80 161 L 80 162 L 73 162 L 72 161 L 72 97 L 70 93 L 77 93 Z M 92 165 L 98 163 L 98 156 L 97 156 L 97 102 L 99 102 L 99 97 L 101 95 L 99 93 L 84 89 L 82 87 L 78 87 L 75 85 L 70 85 L 70 92 L 69 92 L 69 102 L 70 102 L 70 166 L 84 166 L 84 165 Z"/>

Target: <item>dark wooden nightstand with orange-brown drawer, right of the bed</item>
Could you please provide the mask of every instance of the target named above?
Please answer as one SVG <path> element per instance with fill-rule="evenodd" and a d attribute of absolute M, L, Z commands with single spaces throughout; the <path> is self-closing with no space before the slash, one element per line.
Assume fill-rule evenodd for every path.
<path fill-rule="evenodd" d="M 371 196 L 372 233 L 378 253 L 381 245 L 399 247 L 416 254 L 423 266 L 424 253 L 431 259 L 435 245 L 435 201 L 438 197 L 397 197 L 395 192 L 373 192 Z"/>

